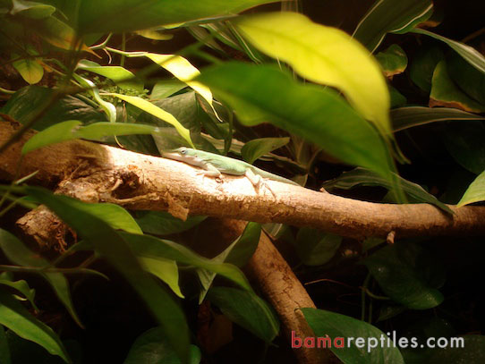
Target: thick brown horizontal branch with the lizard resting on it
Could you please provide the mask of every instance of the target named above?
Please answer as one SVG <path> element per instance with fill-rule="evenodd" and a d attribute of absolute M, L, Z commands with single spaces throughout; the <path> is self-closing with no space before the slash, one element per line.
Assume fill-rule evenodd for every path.
<path fill-rule="evenodd" d="M 0 123 L 0 144 L 19 128 Z M 0 179 L 13 179 L 21 146 L 31 135 L 0 155 Z M 191 165 L 83 140 L 31 152 L 23 158 L 19 176 L 36 170 L 36 182 L 73 197 L 135 210 L 166 210 L 180 218 L 205 215 L 310 226 L 356 239 L 386 238 L 390 232 L 396 239 L 485 233 L 485 207 L 451 207 L 455 215 L 447 216 L 427 204 L 364 202 L 268 181 L 275 198 L 266 189 L 255 191 L 244 177 L 227 175 L 217 182 Z"/>

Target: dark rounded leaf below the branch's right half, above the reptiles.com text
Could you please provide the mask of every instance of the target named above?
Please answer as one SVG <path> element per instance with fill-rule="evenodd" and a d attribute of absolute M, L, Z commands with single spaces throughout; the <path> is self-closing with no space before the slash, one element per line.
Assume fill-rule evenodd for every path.
<path fill-rule="evenodd" d="M 409 309 L 431 309 L 443 301 L 438 287 L 445 270 L 437 258 L 410 241 L 376 251 L 363 263 L 387 296 Z"/>

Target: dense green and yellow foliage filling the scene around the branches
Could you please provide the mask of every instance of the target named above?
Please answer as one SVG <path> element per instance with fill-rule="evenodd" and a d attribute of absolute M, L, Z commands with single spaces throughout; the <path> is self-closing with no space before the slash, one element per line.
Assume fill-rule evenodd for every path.
<path fill-rule="evenodd" d="M 349 15 L 356 2 L 325 3 L 0 0 L 0 123 L 38 131 L 23 155 L 75 139 L 154 156 L 186 146 L 445 216 L 485 200 L 480 5 L 381 0 Z M 31 177 L 0 185 L 0 363 L 292 362 L 240 269 L 259 224 L 206 258 L 187 247 L 205 216 L 88 204 Z M 75 232 L 42 256 L 14 228 L 38 205 Z M 302 312 L 316 335 L 464 337 L 464 350 L 334 349 L 343 362 L 485 360 L 481 239 L 264 230 L 313 282 L 319 309 Z M 207 302 L 220 330 L 236 324 L 231 343 L 211 337 L 219 351 L 200 340 Z"/>

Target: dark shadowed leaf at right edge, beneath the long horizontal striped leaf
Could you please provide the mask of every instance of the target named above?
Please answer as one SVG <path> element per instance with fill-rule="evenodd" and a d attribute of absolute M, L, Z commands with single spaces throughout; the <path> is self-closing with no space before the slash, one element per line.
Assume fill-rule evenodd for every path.
<path fill-rule="evenodd" d="M 448 123 L 441 131 L 448 153 L 472 174 L 485 170 L 485 125 L 483 123 Z"/>

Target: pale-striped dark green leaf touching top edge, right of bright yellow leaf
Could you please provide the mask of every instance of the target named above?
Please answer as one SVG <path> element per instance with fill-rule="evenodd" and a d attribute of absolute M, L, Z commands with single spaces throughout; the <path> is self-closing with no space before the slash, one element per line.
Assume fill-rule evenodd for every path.
<path fill-rule="evenodd" d="M 377 0 L 353 31 L 353 37 L 373 53 L 387 33 L 409 31 L 428 20 L 432 11 L 430 0 Z"/>

